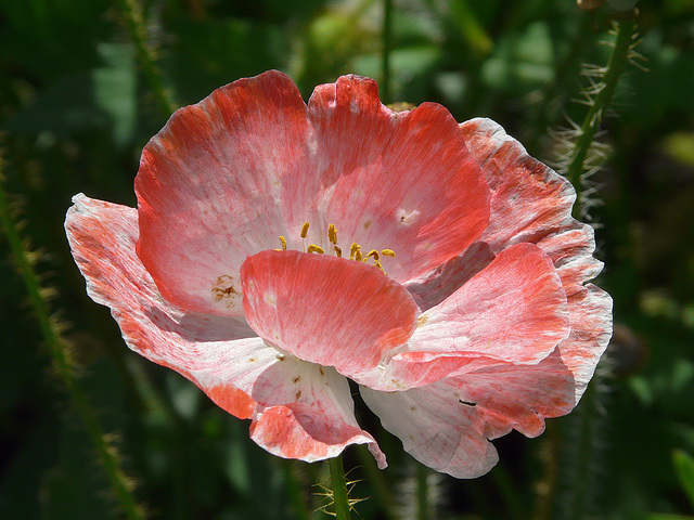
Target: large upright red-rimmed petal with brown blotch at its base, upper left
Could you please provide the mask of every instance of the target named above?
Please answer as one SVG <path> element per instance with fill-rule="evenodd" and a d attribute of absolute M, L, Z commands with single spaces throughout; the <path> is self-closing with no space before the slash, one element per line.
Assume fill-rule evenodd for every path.
<path fill-rule="evenodd" d="M 306 170 L 306 105 L 277 70 L 179 109 L 144 147 L 136 179 L 138 255 L 162 295 L 242 315 L 245 257 L 279 247 L 284 177 Z"/>

